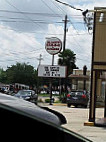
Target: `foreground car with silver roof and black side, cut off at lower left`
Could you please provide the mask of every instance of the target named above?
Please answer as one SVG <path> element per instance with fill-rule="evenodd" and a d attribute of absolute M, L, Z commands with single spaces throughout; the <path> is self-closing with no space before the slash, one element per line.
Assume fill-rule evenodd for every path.
<path fill-rule="evenodd" d="M 33 103 L 0 93 L 2 141 L 91 142 L 61 126 L 53 114 Z"/>

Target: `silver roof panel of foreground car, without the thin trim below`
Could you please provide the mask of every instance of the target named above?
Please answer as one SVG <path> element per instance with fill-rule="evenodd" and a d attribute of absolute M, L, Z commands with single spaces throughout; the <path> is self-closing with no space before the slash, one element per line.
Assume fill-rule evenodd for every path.
<path fill-rule="evenodd" d="M 59 118 L 37 105 L 0 93 L 0 107 L 47 123 L 60 125 Z"/>

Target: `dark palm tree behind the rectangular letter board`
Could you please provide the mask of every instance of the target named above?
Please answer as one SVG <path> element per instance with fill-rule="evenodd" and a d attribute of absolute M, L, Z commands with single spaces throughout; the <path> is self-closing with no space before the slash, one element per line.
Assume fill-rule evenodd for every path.
<path fill-rule="evenodd" d="M 74 52 L 71 51 L 70 49 L 66 49 L 63 52 L 60 52 L 58 56 L 59 56 L 58 65 L 67 66 L 67 75 L 71 74 L 73 69 L 78 68 L 75 65 L 76 54 L 74 54 Z"/>

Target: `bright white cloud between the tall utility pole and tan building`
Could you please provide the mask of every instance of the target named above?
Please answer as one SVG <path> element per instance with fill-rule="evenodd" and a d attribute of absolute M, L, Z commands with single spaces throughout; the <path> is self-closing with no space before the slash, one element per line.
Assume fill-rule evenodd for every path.
<path fill-rule="evenodd" d="M 92 35 L 87 31 L 79 30 L 70 26 L 67 33 L 67 48 L 74 51 L 76 54 L 76 64 L 79 68 L 87 65 L 90 69 L 91 64 L 91 49 L 92 49 Z"/>

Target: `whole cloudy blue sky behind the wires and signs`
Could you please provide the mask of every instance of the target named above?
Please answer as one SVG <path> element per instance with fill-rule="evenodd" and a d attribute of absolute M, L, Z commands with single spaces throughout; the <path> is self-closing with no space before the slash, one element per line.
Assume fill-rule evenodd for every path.
<path fill-rule="evenodd" d="M 83 11 L 104 7 L 106 0 L 61 0 Z M 84 24 L 82 12 L 55 0 L 0 0 L 0 68 L 7 69 L 17 62 L 37 69 L 51 65 L 52 55 L 45 50 L 47 38 L 63 42 L 64 19 L 68 16 L 66 49 L 76 54 L 76 65 L 91 68 L 92 34 Z M 54 56 L 57 65 L 58 55 Z"/>

